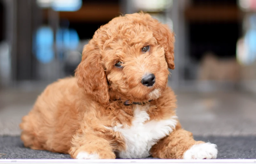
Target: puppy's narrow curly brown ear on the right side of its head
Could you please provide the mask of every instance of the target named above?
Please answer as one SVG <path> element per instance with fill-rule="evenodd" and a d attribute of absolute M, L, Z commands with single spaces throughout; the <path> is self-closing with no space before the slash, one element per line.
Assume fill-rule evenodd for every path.
<path fill-rule="evenodd" d="M 153 31 L 153 36 L 157 43 L 164 48 L 165 60 L 170 69 L 174 69 L 174 33 L 170 30 L 168 25 L 160 23 L 157 19 L 153 19 L 149 14 L 144 15 L 148 22 L 148 26 Z"/>

